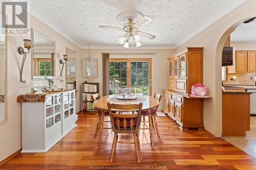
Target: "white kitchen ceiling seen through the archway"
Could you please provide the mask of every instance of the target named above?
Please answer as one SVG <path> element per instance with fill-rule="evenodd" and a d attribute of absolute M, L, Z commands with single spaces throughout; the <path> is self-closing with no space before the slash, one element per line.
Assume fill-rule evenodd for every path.
<path fill-rule="evenodd" d="M 233 43 L 256 43 L 256 19 L 249 23 L 242 23 L 230 34 Z"/>

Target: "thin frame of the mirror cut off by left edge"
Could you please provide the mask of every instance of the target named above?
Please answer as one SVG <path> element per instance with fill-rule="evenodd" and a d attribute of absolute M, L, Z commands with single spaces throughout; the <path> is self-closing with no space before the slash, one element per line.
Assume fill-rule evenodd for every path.
<path fill-rule="evenodd" d="M 1 11 L 0 11 L 1 12 Z M 4 14 L 3 14 L 4 15 Z M 7 18 L 7 15 L 4 15 L 6 18 Z M 1 124 L 4 124 L 4 123 L 7 123 L 7 120 L 8 120 L 8 99 L 7 99 L 7 96 L 8 96 L 8 48 L 7 48 L 7 35 L 5 35 L 5 45 L 4 45 L 4 48 L 5 48 L 5 120 L 3 122 L 0 122 L 0 125 Z"/>

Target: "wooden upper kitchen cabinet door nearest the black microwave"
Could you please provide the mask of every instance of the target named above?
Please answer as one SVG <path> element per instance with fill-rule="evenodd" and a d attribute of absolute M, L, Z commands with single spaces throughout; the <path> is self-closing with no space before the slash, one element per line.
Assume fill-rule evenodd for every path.
<path fill-rule="evenodd" d="M 247 51 L 236 51 L 236 72 L 247 72 Z"/>

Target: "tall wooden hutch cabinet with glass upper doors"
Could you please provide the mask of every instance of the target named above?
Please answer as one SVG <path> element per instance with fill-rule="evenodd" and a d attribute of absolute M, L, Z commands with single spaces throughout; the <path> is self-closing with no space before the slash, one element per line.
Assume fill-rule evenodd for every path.
<path fill-rule="evenodd" d="M 169 75 L 164 112 L 182 130 L 203 130 L 203 98 L 191 95 L 191 86 L 202 83 L 203 47 L 187 47 L 167 59 Z"/>

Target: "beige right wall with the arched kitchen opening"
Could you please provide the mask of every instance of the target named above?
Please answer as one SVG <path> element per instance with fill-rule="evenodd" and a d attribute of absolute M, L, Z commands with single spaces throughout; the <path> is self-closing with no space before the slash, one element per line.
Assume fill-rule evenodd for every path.
<path fill-rule="evenodd" d="M 211 99 L 204 99 L 203 123 L 206 130 L 216 135 L 222 134 L 222 89 L 221 55 L 224 43 L 230 33 L 243 21 L 256 16 L 256 1 L 247 0 L 221 19 L 178 46 L 178 52 L 186 46 L 203 46 L 203 83 L 208 88 Z"/>

